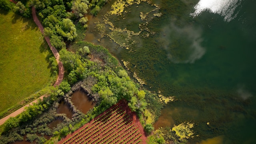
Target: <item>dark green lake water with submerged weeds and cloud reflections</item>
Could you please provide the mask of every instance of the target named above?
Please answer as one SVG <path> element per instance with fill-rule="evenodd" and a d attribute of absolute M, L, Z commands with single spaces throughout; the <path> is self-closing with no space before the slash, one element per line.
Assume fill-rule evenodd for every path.
<path fill-rule="evenodd" d="M 102 22 L 102 15 L 110 11 L 112 0 L 90 19 L 86 40 L 106 46 L 120 61 L 129 62 L 131 76 L 136 72 L 148 90 L 176 97 L 175 102 L 164 107 L 155 128 L 194 122 L 192 144 L 254 144 L 256 1 L 234 0 L 226 8 L 232 0 L 201 0 L 206 6 L 222 2 L 219 7 L 224 5 L 228 12 L 230 8 L 234 11 L 228 17 L 227 11 L 202 10 L 193 17 L 198 2 L 153 0 L 160 10 L 150 12 L 156 7 L 141 2 L 125 8 L 127 13 L 121 16 L 108 16 L 115 28 L 134 32 L 140 31 L 139 24 L 147 23 L 150 31 L 131 36 L 134 43 L 126 43 L 126 50 L 113 42 L 120 42 L 117 37 L 125 33 L 111 35 L 110 42 L 106 36 L 100 38 L 97 31 L 91 31 L 94 22 Z M 147 20 L 140 19 L 140 12 L 149 12 Z M 160 12 L 160 18 L 153 16 Z M 100 42 L 96 40 L 99 38 Z"/>

